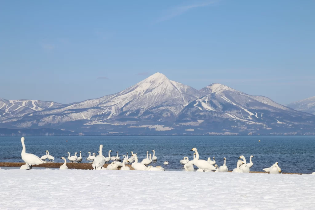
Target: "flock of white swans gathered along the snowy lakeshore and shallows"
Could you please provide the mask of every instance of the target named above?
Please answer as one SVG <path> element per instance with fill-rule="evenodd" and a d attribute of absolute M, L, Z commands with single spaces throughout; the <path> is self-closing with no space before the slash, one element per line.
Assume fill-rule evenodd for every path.
<path fill-rule="evenodd" d="M 26 148 L 25 148 L 25 137 L 21 138 L 21 143 L 22 143 L 22 160 L 26 163 L 25 165 L 21 166 L 20 169 L 32 169 L 33 165 L 40 165 L 43 163 L 46 163 L 46 159 L 49 161 L 54 160 L 54 157 L 52 155 L 49 155 L 49 151 L 46 150 L 46 155 L 43 155 L 41 158 L 37 157 L 36 155 L 33 155 L 31 153 L 26 153 Z M 121 159 L 118 155 L 116 156 L 111 156 L 112 150 L 108 151 L 108 157 L 103 156 L 103 145 L 100 145 L 100 150 L 98 151 L 99 155 L 96 156 L 96 153 L 93 153 L 91 155 L 91 152 L 89 153 L 89 157 L 86 158 L 86 160 L 91 160 L 91 164 L 94 170 L 130 170 L 130 167 L 126 166 L 126 163 L 131 164 L 131 167 L 133 167 L 135 170 L 140 170 L 140 171 L 164 171 L 164 168 L 162 166 L 149 166 L 153 161 L 157 161 L 157 156 L 155 156 L 155 150 L 152 150 L 153 155 L 149 151 L 146 152 L 146 158 L 143 159 L 141 162 L 138 162 L 138 156 L 137 153 L 133 153 L 131 151 L 131 156 L 128 157 L 128 152 L 126 155 L 123 155 L 123 162 L 121 162 Z M 184 165 L 185 171 L 187 172 L 193 172 L 194 171 L 194 166 L 198 167 L 196 172 L 228 172 L 228 168 L 226 166 L 226 158 L 223 158 L 223 165 L 218 166 L 215 161 L 215 157 L 211 160 L 211 158 L 208 158 L 208 160 L 201 160 L 199 159 L 199 153 L 197 151 L 197 148 L 192 148 L 191 151 L 194 152 L 193 154 L 193 160 L 189 160 L 188 157 L 184 157 L 183 160 L 180 160 L 180 164 Z M 80 156 L 77 156 L 77 152 L 73 155 L 70 156 L 70 152 L 68 152 L 68 160 L 70 162 L 80 162 L 82 161 L 82 154 L 80 151 Z M 239 156 L 236 164 L 236 168 L 233 169 L 232 172 L 234 173 L 248 173 L 250 171 L 250 168 L 254 165 L 252 162 L 252 157 L 253 155 L 250 156 L 249 163 L 246 162 L 246 159 L 243 155 Z M 68 169 L 68 166 L 66 165 L 67 160 L 65 157 L 61 157 L 62 160 L 64 160 L 64 164 L 60 166 L 60 170 L 65 170 Z M 108 163 L 109 161 L 112 161 L 111 164 L 109 164 L 106 168 L 104 167 L 105 163 Z M 168 165 L 168 161 L 164 161 L 164 165 Z M 1 169 L 1 168 L 0 168 Z M 263 169 L 265 172 L 269 173 L 281 173 L 281 169 L 278 166 L 278 162 L 273 164 L 269 168 L 264 168 Z"/>

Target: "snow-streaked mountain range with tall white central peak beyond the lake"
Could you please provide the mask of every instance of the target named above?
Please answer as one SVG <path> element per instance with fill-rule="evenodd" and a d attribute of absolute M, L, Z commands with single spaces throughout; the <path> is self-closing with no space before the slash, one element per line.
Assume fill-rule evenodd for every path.
<path fill-rule="evenodd" d="M 155 73 L 116 94 L 71 104 L 0 98 L 0 128 L 57 129 L 45 135 L 314 135 L 315 116 L 302 111 L 221 84 L 196 90 Z"/>

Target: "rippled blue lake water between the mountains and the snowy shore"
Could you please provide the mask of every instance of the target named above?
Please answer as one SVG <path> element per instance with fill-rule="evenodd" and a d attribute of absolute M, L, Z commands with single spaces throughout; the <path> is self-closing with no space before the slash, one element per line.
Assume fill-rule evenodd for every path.
<path fill-rule="evenodd" d="M 157 163 L 153 166 L 163 165 L 165 160 L 169 165 L 165 169 L 183 169 L 179 163 L 184 156 L 192 160 L 193 147 L 198 149 L 200 159 L 207 160 L 215 156 L 216 164 L 226 165 L 229 170 L 236 168 L 240 155 L 244 155 L 249 163 L 249 156 L 254 155 L 254 166 L 251 171 L 262 171 L 263 168 L 279 162 L 283 172 L 310 173 L 315 171 L 315 137 L 314 136 L 49 136 L 25 137 L 26 152 L 39 157 L 46 155 L 49 150 L 55 162 L 63 162 L 60 158 L 67 157 L 67 152 L 74 155 L 82 151 L 83 161 L 88 152 L 99 150 L 104 145 L 103 155 L 122 158 L 126 152 L 133 151 L 138 154 L 139 160 L 146 158 L 146 151 L 156 151 Z M 21 159 L 21 137 L 0 137 L 0 162 L 23 162 Z M 260 142 L 259 142 L 260 140 Z M 151 152 L 153 155 L 153 152 Z M 196 168 L 196 167 L 195 167 Z"/>

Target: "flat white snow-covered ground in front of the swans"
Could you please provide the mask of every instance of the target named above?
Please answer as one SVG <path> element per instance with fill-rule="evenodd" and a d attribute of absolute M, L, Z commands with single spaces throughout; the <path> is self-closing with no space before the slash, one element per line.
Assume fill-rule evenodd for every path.
<path fill-rule="evenodd" d="M 0 170 L 0 209 L 314 209 L 315 176 Z"/>

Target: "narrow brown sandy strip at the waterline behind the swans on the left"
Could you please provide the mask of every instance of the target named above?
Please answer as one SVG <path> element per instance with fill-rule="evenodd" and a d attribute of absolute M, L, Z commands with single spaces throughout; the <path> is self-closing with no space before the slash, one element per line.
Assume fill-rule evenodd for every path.
<path fill-rule="evenodd" d="M 0 166 L 3 167 L 21 167 L 25 163 L 9 163 L 9 162 L 0 162 Z M 44 168 L 59 168 L 63 163 L 43 163 L 40 165 L 33 165 L 32 167 L 44 167 Z M 107 167 L 109 164 L 104 164 L 104 167 Z M 69 169 L 90 169 L 92 170 L 92 164 L 90 163 L 67 163 Z M 134 170 L 131 165 L 125 165 L 131 170 Z"/>

